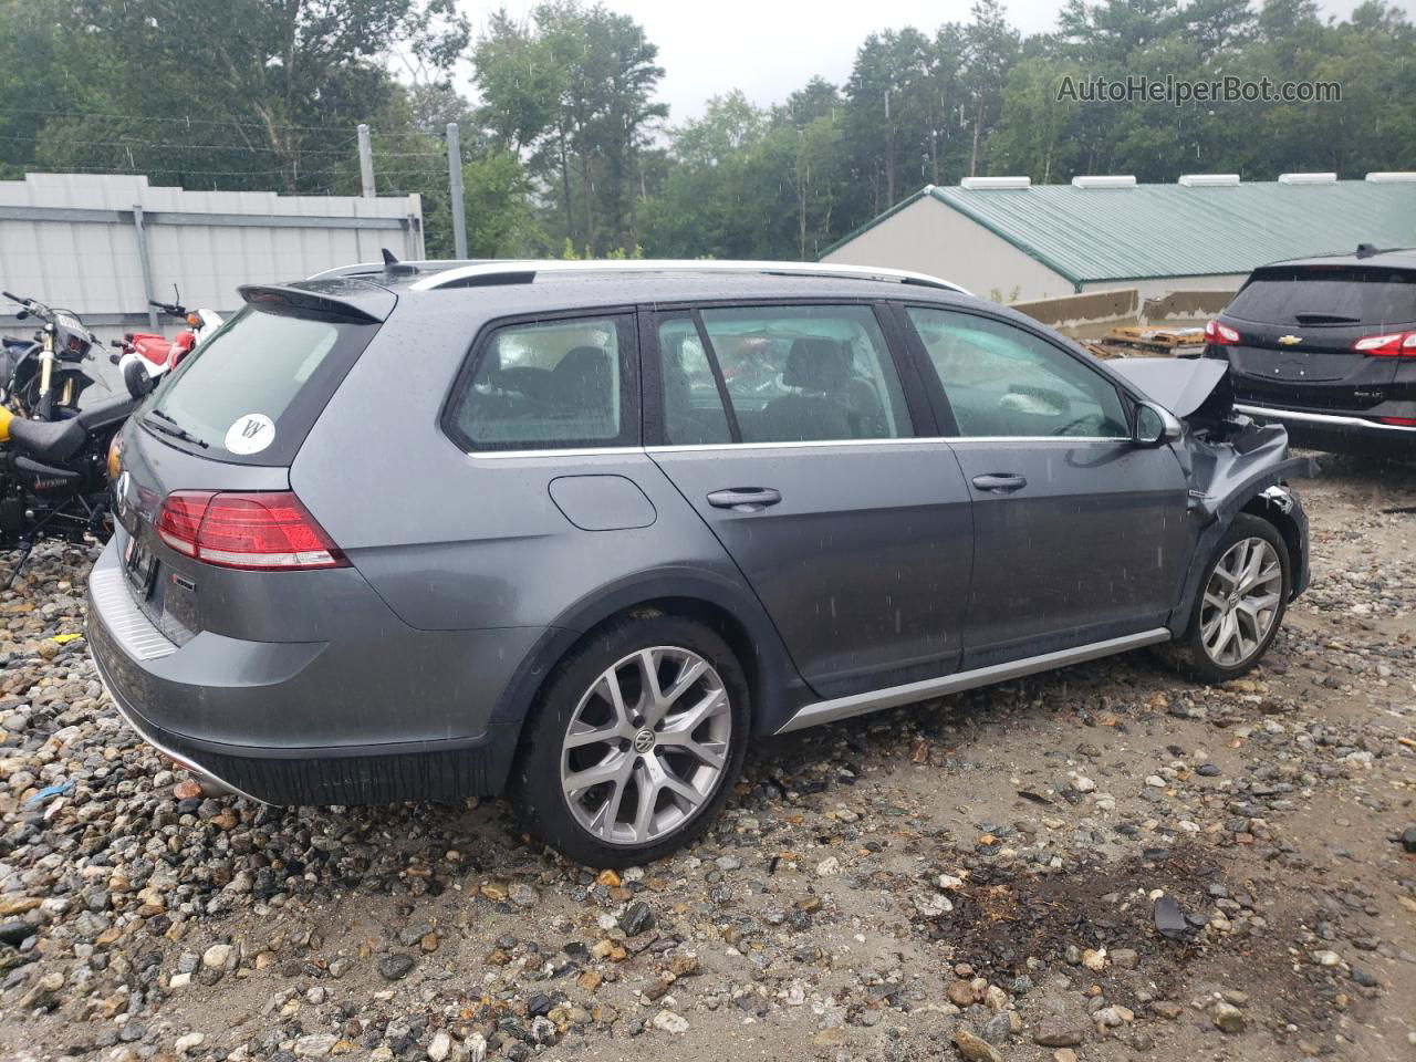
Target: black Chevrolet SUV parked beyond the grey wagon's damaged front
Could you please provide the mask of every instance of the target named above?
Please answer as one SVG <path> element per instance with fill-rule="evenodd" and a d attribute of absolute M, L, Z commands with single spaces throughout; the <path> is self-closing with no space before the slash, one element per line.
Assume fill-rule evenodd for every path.
<path fill-rule="evenodd" d="M 1255 269 L 1205 338 L 1238 408 L 1296 443 L 1416 453 L 1416 251 Z"/>

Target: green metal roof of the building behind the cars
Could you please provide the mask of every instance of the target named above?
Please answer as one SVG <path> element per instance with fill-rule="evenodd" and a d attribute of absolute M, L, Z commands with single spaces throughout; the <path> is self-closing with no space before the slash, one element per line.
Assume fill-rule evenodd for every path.
<path fill-rule="evenodd" d="M 1416 184 L 1250 181 L 1231 187 L 930 187 L 835 246 L 926 194 L 1076 285 L 1247 273 L 1266 262 L 1348 252 L 1358 244 L 1416 245 Z"/>

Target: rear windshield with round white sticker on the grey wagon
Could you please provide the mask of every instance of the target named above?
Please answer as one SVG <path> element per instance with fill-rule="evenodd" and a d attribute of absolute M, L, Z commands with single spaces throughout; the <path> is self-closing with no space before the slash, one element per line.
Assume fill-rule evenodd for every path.
<path fill-rule="evenodd" d="M 377 324 L 246 306 L 159 385 L 143 426 L 217 460 L 289 464 Z"/>

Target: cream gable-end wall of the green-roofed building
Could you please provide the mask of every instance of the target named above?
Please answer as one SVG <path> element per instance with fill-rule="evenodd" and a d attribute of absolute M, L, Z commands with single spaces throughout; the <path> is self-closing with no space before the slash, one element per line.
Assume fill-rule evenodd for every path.
<path fill-rule="evenodd" d="M 1073 285 L 1035 258 L 939 200 L 923 195 L 823 256 L 840 265 L 932 273 L 981 299 L 1003 302 L 1073 295 Z"/>

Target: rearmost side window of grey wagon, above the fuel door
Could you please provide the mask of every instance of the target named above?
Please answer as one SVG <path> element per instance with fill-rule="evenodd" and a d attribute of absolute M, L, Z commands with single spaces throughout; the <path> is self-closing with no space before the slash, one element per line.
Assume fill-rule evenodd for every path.
<path fill-rule="evenodd" d="M 639 445 L 629 316 L 506 324 L 459 385 L 447 430 L 469 450 Z"/>

